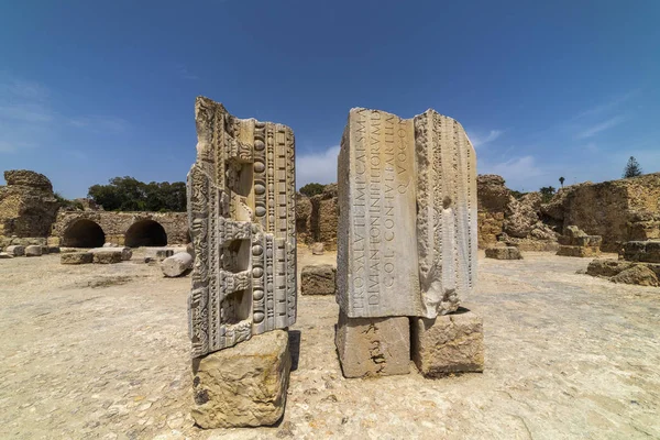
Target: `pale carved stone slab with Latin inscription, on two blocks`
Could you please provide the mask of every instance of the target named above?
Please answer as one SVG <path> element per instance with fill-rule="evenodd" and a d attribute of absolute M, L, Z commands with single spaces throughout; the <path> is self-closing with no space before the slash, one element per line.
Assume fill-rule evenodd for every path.
<path fill-rule="evenodd" d="M 338 163 L 338 302 L 350 318 L 435 318 L 476 276 L 475 154 L 460 123 L 352 109 Z"/>

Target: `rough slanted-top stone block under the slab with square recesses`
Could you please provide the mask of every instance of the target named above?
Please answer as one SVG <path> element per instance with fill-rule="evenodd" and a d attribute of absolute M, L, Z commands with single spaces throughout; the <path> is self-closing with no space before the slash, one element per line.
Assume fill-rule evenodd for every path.
<path fill-rule="evenodd" d="M 195 422 L 202 428 L 274 425 L 284 414 L 290 366 L 286 330 L 194 360 Z"/>

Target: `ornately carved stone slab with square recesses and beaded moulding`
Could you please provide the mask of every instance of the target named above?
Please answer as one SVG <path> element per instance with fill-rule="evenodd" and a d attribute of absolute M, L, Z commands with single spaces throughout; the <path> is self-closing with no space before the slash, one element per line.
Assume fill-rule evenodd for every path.
<path fill-rule="evenodd" d="M 188 318 L 198 358 L 296 321 L 296 186 L 288 127 L 238 119 L 204 97 L 195 119 Z"/>

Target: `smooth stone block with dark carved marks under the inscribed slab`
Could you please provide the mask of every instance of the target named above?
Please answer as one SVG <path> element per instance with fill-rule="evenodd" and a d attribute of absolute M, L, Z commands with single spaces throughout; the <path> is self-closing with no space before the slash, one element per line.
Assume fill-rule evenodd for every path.
<path fill-rule="evenodd" d="M 341 310 L 334 343 L 344 377 L 408 374 L 408 317 L 349 318 Z"/>

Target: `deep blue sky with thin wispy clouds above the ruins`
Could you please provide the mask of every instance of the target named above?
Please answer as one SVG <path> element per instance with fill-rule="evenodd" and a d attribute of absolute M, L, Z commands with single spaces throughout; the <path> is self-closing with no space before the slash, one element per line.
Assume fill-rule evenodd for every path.
<path fill-rule="evenodd" d="M 352 107 L 455 118 L 519 190 L 660 172 L 660 2 L 0 3 L 0 170 L 184 180 L 198 95 L 292 127 L 299 186 Z"/>

